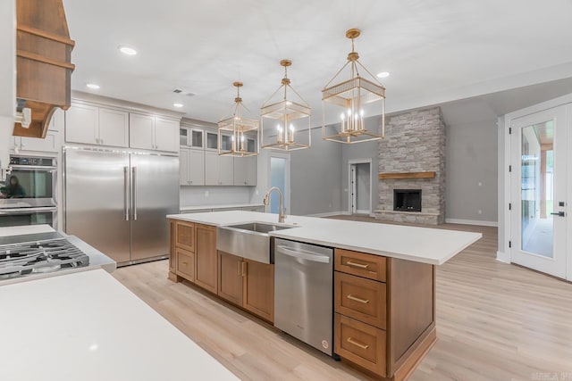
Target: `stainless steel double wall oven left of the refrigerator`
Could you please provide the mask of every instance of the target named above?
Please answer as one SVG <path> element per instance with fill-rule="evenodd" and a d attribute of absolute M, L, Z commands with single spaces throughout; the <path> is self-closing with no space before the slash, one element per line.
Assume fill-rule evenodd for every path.
<path fill-rule="evenodd" d="M 0 183 L 0 227 L 48 224 L 57 228 L 55 157 L 10 156 Z"/>

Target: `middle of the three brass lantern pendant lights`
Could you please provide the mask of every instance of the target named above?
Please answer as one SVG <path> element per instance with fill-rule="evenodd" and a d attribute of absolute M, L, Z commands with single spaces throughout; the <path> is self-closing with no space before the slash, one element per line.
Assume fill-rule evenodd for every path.
<path fill-rule="evenodd" d="M 282 84 L 260 108 L 262 148 L 296 151 L 311 145 L 311 109 L 290 85 L 290 60 L 280 62 L 284 68 Z M 289 92 L 290 90 L 290 92 Z"/>

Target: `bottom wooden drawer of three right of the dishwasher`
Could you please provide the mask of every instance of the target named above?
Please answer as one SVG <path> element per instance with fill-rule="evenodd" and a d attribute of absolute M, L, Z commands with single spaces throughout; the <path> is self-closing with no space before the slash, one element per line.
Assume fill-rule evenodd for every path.
<path fill-rule="evenodd" d="M 375 374 L 386 375 L 385 331 L 339 313 L 334 315 L 333 327 L 334 352 Z"/>

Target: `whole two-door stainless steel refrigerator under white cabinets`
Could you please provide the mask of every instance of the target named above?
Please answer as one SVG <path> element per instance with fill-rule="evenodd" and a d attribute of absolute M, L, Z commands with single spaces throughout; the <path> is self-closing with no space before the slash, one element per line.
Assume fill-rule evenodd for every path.
<path fill-rule="evenodd" d="M 64 230 L 119 264 L 168 254 L 165 216 L 179 212 L 179 158 L 64 148 Z"/>

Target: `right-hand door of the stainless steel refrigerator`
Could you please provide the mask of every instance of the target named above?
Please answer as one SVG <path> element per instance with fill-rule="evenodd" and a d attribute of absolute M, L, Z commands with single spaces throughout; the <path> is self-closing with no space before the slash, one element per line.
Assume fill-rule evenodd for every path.
<path fill-rule="evenodd" d="M 167 255 L 167 214 L 179 213 L 179 158 L 131 154 L 131 261 Z"/>

